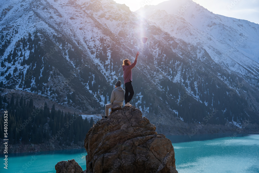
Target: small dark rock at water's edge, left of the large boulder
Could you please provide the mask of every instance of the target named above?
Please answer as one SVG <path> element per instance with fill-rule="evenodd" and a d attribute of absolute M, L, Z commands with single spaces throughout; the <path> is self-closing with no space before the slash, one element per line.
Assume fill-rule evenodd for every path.
<path fill-rule="evenodd" d="M 83 169 L 78 163 L 72 159 L 68 161 L 61 161 L 55 165 L 56 173 L 81 173 Z"/>

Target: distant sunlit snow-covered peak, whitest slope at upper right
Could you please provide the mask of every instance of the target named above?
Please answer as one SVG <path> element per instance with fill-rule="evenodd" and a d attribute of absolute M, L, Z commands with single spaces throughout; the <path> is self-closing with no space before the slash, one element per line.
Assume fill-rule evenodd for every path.
<path fill-rule="evenodd" d="M 203 47 L 229 73 L 257 78 L 259 25 L 216 15 L 191 0 L 170 0 L 136 11 L 157 27 L 194 46 Z M 256 84 L 256 83 L 255 83 Z"/>

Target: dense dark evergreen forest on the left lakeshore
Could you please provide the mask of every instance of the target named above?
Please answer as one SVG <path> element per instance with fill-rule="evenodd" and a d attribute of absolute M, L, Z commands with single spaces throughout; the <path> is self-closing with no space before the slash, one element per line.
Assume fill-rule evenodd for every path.
<path fill-rule="evenodd" d="M 13 97 L 14 99 L 14 97 Z M 11 99 L 11 100 L 13 100 Z M 16 144 L 20 141 L 27 144 L 27 143 L 44 143 L 51 139 L 50 135 L 55 135 L 58 130 L 61 128 L 68 128 L 64 133 L 60 135 L 59 138 L 56 139 L 59 144 L 66 144 L 70 145 L 73 141 L 77 144 L 79 141 L 84 140 L 84 132 L 87 132 L 90 128 L 90 122 L 82 119 L 82 116 L 78 117 L 76 120 L 73 121 L 68 127 L 64 127 L 63 124 L 69 122 L 73 118 L 73 115 L 70 113 L 63 114 L 63 111 L 55 110 L 55 107 L 52 107 L 51 113 L 49 113 L 49 109 L 47 103 L 45 102 L 44 109 L 40 109 L 38 111 L 35 106 L 33 106 L 33 99 L 26 101 L 21 97 L 20 101 L 19 98 L 16 99 L 15 106 L 10 107 L 10 103 L 6 100 L 9 107 L 9 124 L 10 124 L 10 134 L 9 134 L 9 141 L 11 144 Z M 12 101 L 12 104 L 14 101 Z M 18 104 L 19 102 L 19 104 Z M 0 96 L 0 105 L 2 103 L 2 98 Z M 33 109 L 31 109 L 33 107 Z M 37 110 L 35 114 L 35 110 Z M 45 130 L 43 128 L 44 124 L 47 122 L 47 117 L 52 114 L 55 115 L 53 119 L 49 121 L 49 128 Z M 37 115 L 37 116 L 35 116 Z M 34 118 L 29 120 L 29 117 L 33 116 Z M 50 116 L 49 116 L 50 117 Z M 26 122 L 26 123 L 25 123 Z M 23 124 L 23 126 L 20 126 Z M 25 124 L 25 125 L 24 125 Z M 93 119 L 91 119 L 91 124 L 93 124 Z M 20 129 L 22 127 L 22 129 Z M 3 116 L 0 117 L 0 137 L 3 136 Z M 50 130 L 50 131 L 49 131 Z M 52 134 L 49 133 L 52 131 Z"/>

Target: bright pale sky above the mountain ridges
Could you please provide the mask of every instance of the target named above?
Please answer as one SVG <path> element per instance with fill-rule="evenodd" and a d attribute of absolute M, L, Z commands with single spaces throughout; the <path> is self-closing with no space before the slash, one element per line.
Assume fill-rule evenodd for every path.
<path fill-rule="evenodd" d="M 157 5 L 166 0 L 114 0 L 126 4 L 131 11 L 136 11 L 144 5 Z M 258 0 L 193 0 L 215 14 L 244 19 L 259 24 Z"/>

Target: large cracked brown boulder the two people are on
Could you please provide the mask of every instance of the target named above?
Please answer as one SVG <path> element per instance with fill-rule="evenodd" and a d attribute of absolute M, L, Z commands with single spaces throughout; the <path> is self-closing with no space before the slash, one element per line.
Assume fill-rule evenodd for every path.
<path fill-rule="evenodd" d="M 134 106 L 116 110 L 87 133 L 88 173 L 176 173 L 172 143 Z"/>

